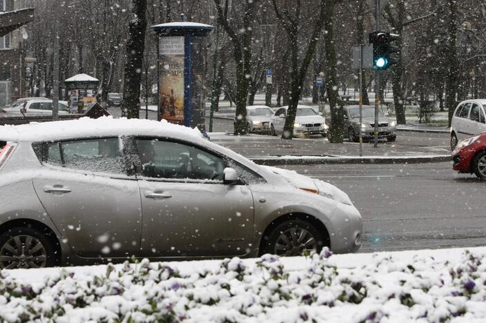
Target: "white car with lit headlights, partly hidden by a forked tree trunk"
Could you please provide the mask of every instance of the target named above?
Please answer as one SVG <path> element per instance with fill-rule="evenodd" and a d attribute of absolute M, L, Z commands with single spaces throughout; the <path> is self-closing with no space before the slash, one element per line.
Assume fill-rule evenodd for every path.
<path fill-rule="evenodd" d="M 271 134 L 276 136 L 284 132 L 287 108 L 275 111 L 270 121 Z M 327 135 L 327 125 L 321 113 L 315 112 L 310 106 L 297 106 L 297 114 L 293 124 L 294 135 Z"/>

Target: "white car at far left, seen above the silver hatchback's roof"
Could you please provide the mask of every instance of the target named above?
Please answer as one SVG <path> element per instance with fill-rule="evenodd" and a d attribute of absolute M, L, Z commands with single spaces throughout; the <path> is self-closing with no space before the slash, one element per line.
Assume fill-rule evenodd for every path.
<path fill-rule="evenodd" d="M 26 101 L 23 106 L 14 106 L 12 108 L 3 108 L 2 117 L 42 117 L 52 115 L 52 100 L 35 99 Z M 59 101 L 59 115 L 68 115 L 69 108 L 67 101 Z"/>

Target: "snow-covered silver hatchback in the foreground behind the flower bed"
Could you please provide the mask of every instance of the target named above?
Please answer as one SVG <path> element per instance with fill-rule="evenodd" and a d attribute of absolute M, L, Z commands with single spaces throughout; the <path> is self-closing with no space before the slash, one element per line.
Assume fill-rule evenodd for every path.
<path fill-rule="evenodd" d="M 362 218 L 318 179 L 166 121 L 0 127 L 0 268 L 358 250 Z"/>

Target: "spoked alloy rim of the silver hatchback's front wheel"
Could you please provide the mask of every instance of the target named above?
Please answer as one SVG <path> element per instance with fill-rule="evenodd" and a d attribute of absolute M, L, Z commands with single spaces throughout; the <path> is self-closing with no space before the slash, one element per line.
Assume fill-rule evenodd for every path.
<path fill-rule="evenodd" d="M 299 256 L 305 251 L 316 251 L 315 237 L 304 228 L 289 228 L 282 232 L 275 243 L 275 255 Z"/>

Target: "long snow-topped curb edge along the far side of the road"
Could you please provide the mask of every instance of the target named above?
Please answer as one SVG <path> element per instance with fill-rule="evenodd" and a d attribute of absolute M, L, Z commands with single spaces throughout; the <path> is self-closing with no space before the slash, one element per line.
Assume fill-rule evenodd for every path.
<path fill-rule="evenodd" d="M 250 158 L 255 164 L 276 166 L 276 165 L 315 165 L 315 164 L 428 164 L 451 161 L 451 155 L 436 156 L 269 156 Z"/>

